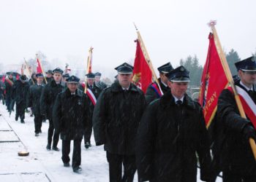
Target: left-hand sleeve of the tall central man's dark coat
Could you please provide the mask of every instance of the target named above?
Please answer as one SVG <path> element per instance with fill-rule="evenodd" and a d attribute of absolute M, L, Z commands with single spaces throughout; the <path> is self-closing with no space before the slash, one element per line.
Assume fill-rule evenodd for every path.
<path fill-rule="evenodd" d="M 94 114 L 92 116 L 92 125 L 94 128 L 94 138 L 97 146 L 105 144 L 105 92 L 99 95 L 96 105 L 94 106 Z"/>

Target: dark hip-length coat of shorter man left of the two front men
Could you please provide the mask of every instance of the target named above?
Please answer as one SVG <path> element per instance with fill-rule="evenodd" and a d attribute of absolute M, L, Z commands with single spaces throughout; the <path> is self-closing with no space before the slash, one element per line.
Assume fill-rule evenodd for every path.
<path fill-rule="evenodd" d="M 83 138 L 89 119 L 89 98 L 81 90 L 71 95 L 69 89 L 59 93 L 53 106 L 53 123 L 62 140 Z"/>

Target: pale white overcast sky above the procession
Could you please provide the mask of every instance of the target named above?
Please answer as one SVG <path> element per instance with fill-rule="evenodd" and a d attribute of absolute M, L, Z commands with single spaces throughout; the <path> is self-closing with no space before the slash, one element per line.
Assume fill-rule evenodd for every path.
<path fill-rule="evenodd" d="M 0 63 L 22 63 L 43 52 L 60 67 L 86 66 L 108 72 L 135 57 L 139 28 L 154 68 L 208 50 L 207 23 L 217 20 L 225 51 L 247 58 L 256 51 L 255 0 L 0 0 Z"/>

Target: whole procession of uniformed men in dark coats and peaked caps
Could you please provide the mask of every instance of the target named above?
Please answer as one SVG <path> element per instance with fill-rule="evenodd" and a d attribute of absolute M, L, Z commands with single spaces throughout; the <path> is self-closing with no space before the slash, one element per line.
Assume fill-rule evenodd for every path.
<path fill-rule="evenodd" d="M 255 58 L 238 61 L 236 68 L 240 78 L 236 86 L 255 107 Z M 219 97 L 218 132 L 211 136 L 215 138 L 211 151 L 203 110 L 186 93 L 189 71 L 184 66 L 160 66 L 160 78 L 148 86 L 146 94 L 132 84 L 131 65 L 123 63 L 115 69 L 118 75 L 110 87 L 96 84 L 95 74 L 86 75 L 86 85 L 79 84 L 76 76 L 67 76 L 63 85 L 60 68 L 53 70 L 48 84 L 42 84 L 44 77 L 37 74 L 36 84 L 29 87 L 27 106 L 33 108 L 36 135 L 42 119 L 49 119 L 47 149 L 59 151 L 60 133 L 64 167 L 69 167 L 73 140 L 72 169 L 80 172 L 81 141 L 84 135 L 86 149 L 91 146 L 93 127 L 96 145 L 104 144 L 110 182 L 133 181 L 136 170 L 138 181 L 197 181 L 197 159 L 202 181 L 215 180 L 213 161 L 225 182 L 256 181 L 256 162 L 249 146 L 249 138 L 256 141 L 255 121 L 239 115 L 232 90 L 223 90 Z M 84 87 L 94 95 L 85 93 Z"/>

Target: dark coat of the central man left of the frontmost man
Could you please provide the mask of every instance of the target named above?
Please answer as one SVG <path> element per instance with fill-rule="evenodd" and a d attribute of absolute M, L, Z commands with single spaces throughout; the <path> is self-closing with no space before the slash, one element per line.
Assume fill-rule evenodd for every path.
<path fill-rule="evenodd" d="M 127 93 L 118 82 L 103 90 L 93 115 L 96 145 L 105 144 L 105 151 L 113 154 L 135 154 L 136 133 L 145 106 L 144 94 L 134 84 Z"/>

